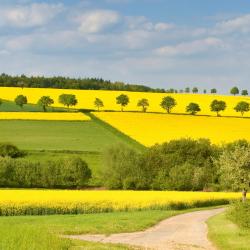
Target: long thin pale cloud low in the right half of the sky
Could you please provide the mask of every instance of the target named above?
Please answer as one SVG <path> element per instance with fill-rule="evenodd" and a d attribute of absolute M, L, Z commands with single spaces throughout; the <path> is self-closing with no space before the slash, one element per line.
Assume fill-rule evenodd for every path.
<path fill-rule="evenodd" d="M 176 56 L 192 55 L 207 51 L 211 48 L 223 48 L 224 44 L 221 39 L 208 37 L 205 39 L 194 40 L 186 43 L 179 43 L 174 46 L 164 46 L 155 50 L 158 55 Z"/>

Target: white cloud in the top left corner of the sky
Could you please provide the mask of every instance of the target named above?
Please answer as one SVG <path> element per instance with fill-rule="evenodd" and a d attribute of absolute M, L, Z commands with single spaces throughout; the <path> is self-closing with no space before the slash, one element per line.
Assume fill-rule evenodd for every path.
<path fill-rule="evenodd" d="M 33 3 L 0 10 L 0 26 L 42 26 L 63 10 L 62 4 Z"/>

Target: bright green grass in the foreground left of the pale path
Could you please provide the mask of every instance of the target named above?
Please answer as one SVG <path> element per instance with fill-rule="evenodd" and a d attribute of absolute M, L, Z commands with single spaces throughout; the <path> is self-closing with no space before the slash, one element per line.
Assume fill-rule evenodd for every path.
<path fill-rule="evenodd" d="M 146 229 L 180 211 L 140 211 L 85 215 L 0 217 L 0 249 L 129 249 L 123 246 L 71 241 L 63 234 L 111 234 Z"/>

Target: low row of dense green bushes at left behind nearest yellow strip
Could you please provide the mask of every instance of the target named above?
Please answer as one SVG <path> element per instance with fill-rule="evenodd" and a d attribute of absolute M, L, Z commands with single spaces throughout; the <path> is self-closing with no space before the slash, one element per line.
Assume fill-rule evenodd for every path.
<path fill-rule="evenodd" d="M 0 158 L 0 187 L 81 188 L 90 177 L 88 165 L 80 158 L 46 163 Z"/>

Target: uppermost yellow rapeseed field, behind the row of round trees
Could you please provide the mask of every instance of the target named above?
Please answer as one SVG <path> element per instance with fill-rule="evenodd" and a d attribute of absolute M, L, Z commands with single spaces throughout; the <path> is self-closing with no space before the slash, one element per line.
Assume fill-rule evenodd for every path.
<path fill-rule="evenodd" d="M 94 100 L 100 98 L 104 102 L 105 110 L 120 110 L 120 106 L 116 104 L 116 97 L 120 94 L 126 94 L 130 98 L 130 103 L 125 110 L 139 111 L 137 102 L 141 98 L 147 98 L 149 100 L 150 112 L 164 112 L 160 107 L 160 102 L 163 97 L 172 95 L 176 101 L 177 106 L 173 109 L 175 113 L 185 113 L 186 106 L 190 102 L 196 102 L 201 107 L 200 114 L 216 115 L 210 111 L 210 103 L 214 99 L 224 100 L 227 103 L 227 110 L 222 112 L 222 115 L 235 116 L 240 115 L 233 109 L 239 101 L 250 102 L 249 97 L 240 96 L 219 96 L 210 94 L 166 94 L 166 93 L 141 93 L 141 92 L 122 92 L 122 91 L 102 91 L 102 90 L 66 90 L 66 89 L 46 89 L 46 88 L 8 88 L 0 87 L 0 98 L 13 101 L 17 95 L 25 95 L 28 98 L 29 103 L 36 104 L 41 96 L 49 95 L 54 99 L 54 106 L 62 107 L 58 103 L 58 97 L 61 94 L 74 94 L 78 99 L 78 105 L 76 108 L 95 109 Z M 250 116 L 250 114 L 246 114 Z"/>

